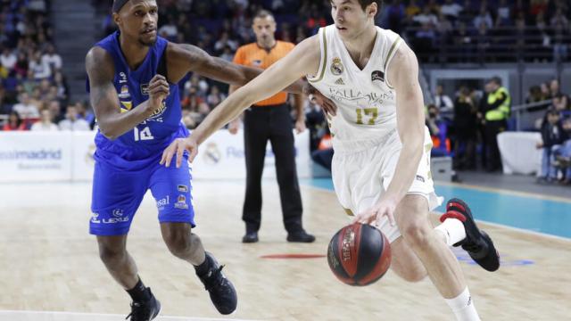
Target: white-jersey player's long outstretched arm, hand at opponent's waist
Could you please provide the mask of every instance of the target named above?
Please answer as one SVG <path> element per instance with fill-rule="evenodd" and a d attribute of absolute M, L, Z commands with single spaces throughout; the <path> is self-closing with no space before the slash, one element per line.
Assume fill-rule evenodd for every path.
<path fill-rule="evenodd" d="M 191 136 L 175 140 L 170 144 L 162 153 L 161 164 L 169 166 L 172 157 L 176 154 L 177 166 L 180 166 L 184 151 L 190 152 L 189 160 L 193 161 L 197 146 L 202 144 L 208 136 L 228 121 L 235 119 L 252 103 L 276 95 L 296 79 L 317 72 L 319 59 L 319 39 L 310 37 L 303 40 L 284 58 L 271 65 L 259 77 L 240 87 L 214 108 L 200 126 L 194 129 Z"/>

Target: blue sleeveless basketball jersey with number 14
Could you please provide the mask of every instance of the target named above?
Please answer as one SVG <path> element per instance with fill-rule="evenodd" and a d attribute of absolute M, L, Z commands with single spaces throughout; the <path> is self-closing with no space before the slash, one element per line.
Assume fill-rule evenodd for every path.
<path fill-rule="evenodd" d="M 115 66 L 113 85 L 119 96 L 120 111 L 128 112 L 149 99 L 148 86 L 151 79 L 160 73 L 167 76 L 167 40 L 157 37 L 149 48 L 145 61 L 137 70 L 131 70 L 120 49 L 119 31 L 105 37 L 96 46 L 112 56 Z M 88 79 L 87 79 L 88 81 Z M 87 90 L 89 84 L 87 83 Z M 95 136 L 95 161 L 102 161 L 119 169 L 144 169 L 161 158 L 162 151 L 176 138 L 188 136 L 181 123 L 178 84 L 170 84 L 170 95 L 153 115 L 136 128 L 109 140 L 98 132 Z"/>

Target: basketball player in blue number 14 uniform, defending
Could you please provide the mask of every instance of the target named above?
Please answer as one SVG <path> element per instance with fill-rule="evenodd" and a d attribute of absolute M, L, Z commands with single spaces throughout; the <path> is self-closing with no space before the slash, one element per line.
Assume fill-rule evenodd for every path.
<path fill-rule="evenodd" d="M 188 136 L 181 124 L 177 84 L 186 73 L 242 86 L 261 70 L 157 37 L 157 11 L 154 0 L 115 0 L 112 15 L 119 31 L 87 53 L 87 88 L 99 125 L 89 229 L 97 236 L 105 267 L 133 300 L 128 317 L 152 320 L 161 303 L 137 275 L 126 250 L 129 226 L 150 188 L 170 252 L 194 266 L 216 309 L 230 314 L 236 309 L 236 290 L 191 233 L 194 209 L 188 165 L 167 169 L 159 161 L 173 140 Z M 292 91 L 301 93 L 301 84 Z"/>

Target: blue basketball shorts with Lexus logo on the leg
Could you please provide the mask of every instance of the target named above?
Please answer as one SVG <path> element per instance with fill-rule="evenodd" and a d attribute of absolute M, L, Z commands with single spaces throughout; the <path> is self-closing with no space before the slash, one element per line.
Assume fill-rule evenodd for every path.
<path fill-rule="evenodd" d="M 194 225 L 191 173 L 188 162 L 165 168 L 159 161 L 145 170 L 128 171 L 95 161 L 89 233 L 126 235 L 135 212 L 150 188 L 159 210 L 159 221 Z"/>

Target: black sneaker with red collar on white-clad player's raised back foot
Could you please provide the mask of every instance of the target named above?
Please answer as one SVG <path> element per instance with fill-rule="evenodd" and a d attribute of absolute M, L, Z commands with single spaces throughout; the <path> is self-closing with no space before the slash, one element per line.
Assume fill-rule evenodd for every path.
<path fill-rule="evenodd" d="M 446 218 L 459 219 L 466 229 L 466 238 L 454 246 L 462 246 L 462 249 L 468 251 L 470 258 L 485 270 L 493 272 L 500 268 L 500 254 L 493 246 L 490 236 L 476 226 L 467 203 L 459 199 L 448 201 L 446 213 L 440 217 L 440 221 L 443 222 Z"/>

